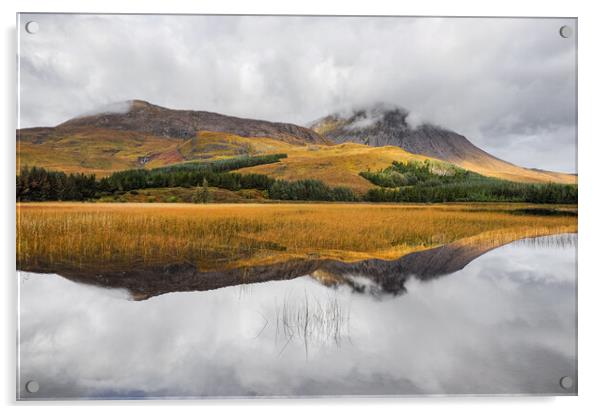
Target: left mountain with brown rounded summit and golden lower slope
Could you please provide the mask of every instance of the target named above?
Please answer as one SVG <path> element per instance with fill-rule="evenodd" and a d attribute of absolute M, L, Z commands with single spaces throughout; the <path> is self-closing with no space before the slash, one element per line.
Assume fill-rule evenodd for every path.
<path fill-rule="evenodd" d="M 17 130 L 17 171 L 35 165 L 104 176 L 117 170 L 318 144 L 331 145 L 298 125 L 172 110 L 134 100 L 56 127 Z"/>

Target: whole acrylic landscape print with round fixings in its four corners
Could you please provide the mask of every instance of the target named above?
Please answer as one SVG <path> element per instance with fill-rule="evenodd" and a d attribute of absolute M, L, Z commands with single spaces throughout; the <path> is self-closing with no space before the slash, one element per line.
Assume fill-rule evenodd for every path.
<path fill-rule="evenodd" d="M 18 399 L 577 394 L 577 19 L 17 34 Z"/>

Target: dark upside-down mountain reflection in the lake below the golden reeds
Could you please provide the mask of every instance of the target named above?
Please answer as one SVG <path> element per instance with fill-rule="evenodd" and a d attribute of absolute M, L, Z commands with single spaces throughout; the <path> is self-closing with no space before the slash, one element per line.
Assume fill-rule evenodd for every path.
<path fill-rule="evenodd" d="M 574 243 L 571 235 L 545 238 L 545 243 L 562 246 Z M 539 238 L 523 243 L 542 243 Z M 170 292 L 207 291 L 227 286 L 248 285 L 272 280 L 289 280 L 309 275 L 325 286 L 348 286 L 355 293 L 373 297 L 401 295 L 409 277 L 426 281 L 463 269 L 484 253 L 515 240 L 466 239 L 407 254 L 397 260 L 370 259 L 359 262 L 334 260 L 292 260 L 265 266 L 198 271 L 191 263 L 175 263 L 124 271 L 57 271 L 67 279 L 106 288 L 125 288 L 134 300 L 144 300 Z M 545 247 L 545 246 L 544 246 Z"/>

